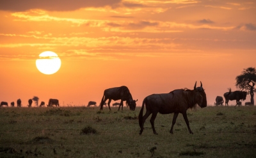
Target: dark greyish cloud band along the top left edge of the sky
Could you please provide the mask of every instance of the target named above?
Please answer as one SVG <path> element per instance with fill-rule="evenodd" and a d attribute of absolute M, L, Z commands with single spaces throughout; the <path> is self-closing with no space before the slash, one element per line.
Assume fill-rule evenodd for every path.
<path fill-rule="evenodd" d="M 31 9 L 72 11 L 86 7 L 116 6 L 122 0 L 1 0 L 0 10 L 22 12 Z"/>

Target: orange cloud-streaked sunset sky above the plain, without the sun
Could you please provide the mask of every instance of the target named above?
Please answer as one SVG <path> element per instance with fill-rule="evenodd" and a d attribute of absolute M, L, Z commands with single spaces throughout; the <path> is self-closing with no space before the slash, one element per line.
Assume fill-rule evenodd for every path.
<path fill-rule="evenodd" d="M 256 65 L 255 15 L 250 0 L 0 1 L 0 101 L 99 105 L 106 88 L 125 85 L 141 106 L 202 81 L 212 105 Z M 60 56 L 56 74 L 37 70 L 44 51 Z"/>

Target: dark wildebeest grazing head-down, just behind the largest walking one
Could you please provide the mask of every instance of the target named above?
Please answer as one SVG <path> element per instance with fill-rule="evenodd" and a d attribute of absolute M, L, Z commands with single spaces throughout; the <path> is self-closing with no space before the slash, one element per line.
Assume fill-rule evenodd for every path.
<path fill-rule="evenodd" d="M 136 107 L 136 101 L 137 100 L 133 100 L 132 99 L 132 95 L 129 91 L 129 89 L 127 88 L 127 86 L 120 86 L 120 87 L 115 87 L 115 88 L 109 88 L 104 90 L 104 94 L 103 97 L 101 99 L 100 102 L 100 110 L 102 110 L 103 108 L 103 104 L 106 102 L 106 100 L 108 100 L 108 108 L 110 109 L 110 102 L 111 100 L 120 100 L 120 105 L 118 108 L 118 111 L 120 110 L 120 107 L 122 106 L 122 110 L 123 110 L 123 106 L 124 106 L 124 101 L 126 101 L 126 104 L 130 107 L 130 110 L 134 111 L 135 107 Z"/>

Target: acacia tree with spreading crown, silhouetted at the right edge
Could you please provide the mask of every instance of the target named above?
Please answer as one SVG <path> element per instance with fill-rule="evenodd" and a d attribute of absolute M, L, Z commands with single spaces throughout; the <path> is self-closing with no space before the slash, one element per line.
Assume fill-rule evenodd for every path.
<path fill-rule="evenodd" d="M 244 68 L 241 75 L 236 77 L 236 87 L 240 90 L 248 90 L 251 95 L 251 104 L 254 105 L 254 93 L 256 91 L 254 86 L 256 83 L 256 69 L 255 67 Z"/>

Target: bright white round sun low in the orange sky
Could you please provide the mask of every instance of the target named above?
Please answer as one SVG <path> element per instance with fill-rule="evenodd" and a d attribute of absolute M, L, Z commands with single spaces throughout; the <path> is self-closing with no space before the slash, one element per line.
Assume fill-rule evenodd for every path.
<path fill-rule="evenodd" d="M 46 75 L 51 75 L 61 67 L 61 60 L 55 52 L 46 51 L 39 55 L 39 59 L 36 59 L 36 68 Z"/>

